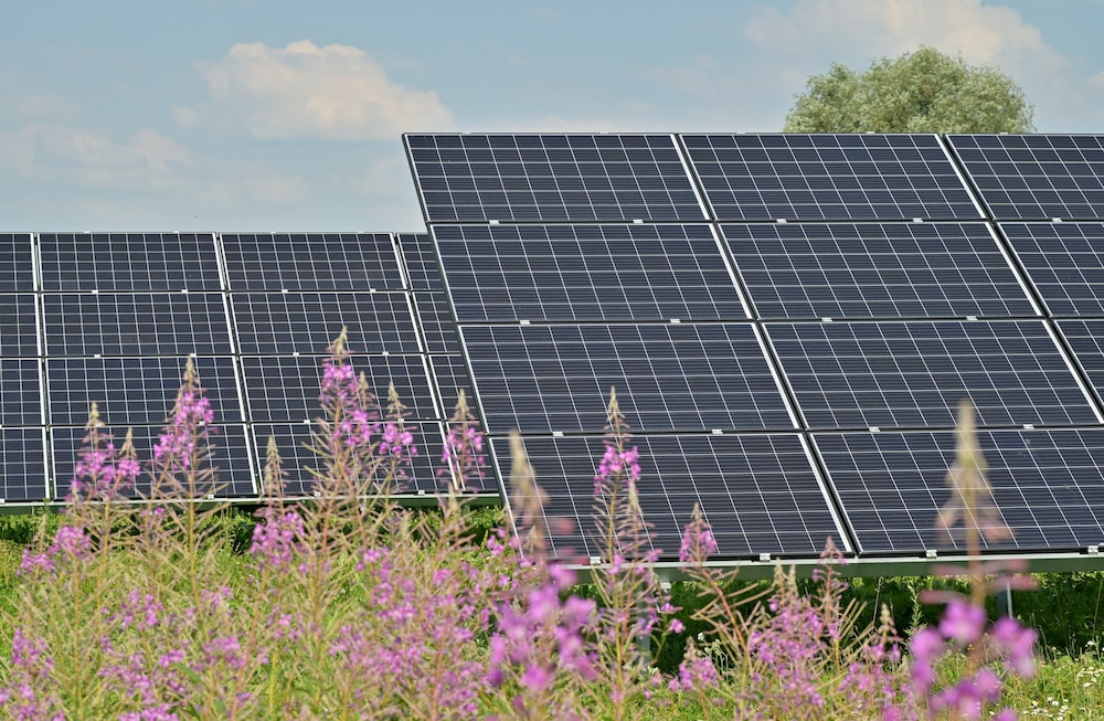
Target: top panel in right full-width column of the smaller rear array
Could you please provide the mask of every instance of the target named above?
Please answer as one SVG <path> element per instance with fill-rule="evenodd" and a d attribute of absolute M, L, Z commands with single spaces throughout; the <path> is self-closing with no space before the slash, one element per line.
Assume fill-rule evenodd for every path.
<path fill-rule="evenodd" d="M 401 290 L 390 233 L 224 233 L 230 290 Z"/>

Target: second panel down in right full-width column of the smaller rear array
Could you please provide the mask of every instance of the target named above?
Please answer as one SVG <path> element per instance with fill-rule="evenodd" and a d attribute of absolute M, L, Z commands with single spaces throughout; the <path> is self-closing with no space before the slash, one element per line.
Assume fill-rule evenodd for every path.
<path fill-rule="evenodd" d="M 349 350 L 418 352 L 405 293 L 235 293 L 231 303 L 242 353 L 325 353 L 342 327 Z"/>

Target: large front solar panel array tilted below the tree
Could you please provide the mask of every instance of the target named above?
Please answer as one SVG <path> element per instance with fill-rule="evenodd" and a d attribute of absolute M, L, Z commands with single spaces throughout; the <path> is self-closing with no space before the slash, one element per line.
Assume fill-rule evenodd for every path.
<path fill-rule="evenodd" d="M 1101 137 L 405 144 L 499 478 L 519 430 L 558 554 L 601 554 L 611 386 L 661 558 L 696 503 L 723 558 L 963 550 L 935 520 L 964 397 L 991 548 L 1104 543 Z"/>

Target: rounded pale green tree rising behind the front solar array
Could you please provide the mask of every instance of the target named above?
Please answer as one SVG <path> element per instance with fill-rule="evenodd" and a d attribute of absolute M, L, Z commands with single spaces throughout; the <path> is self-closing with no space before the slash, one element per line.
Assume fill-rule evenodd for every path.
<path fill-rule="evenodd" d="M 922 46 L 866 73 L 811 76 L 786 132 L 1030 132 L 1032 107 L 1000 70 Z"/>

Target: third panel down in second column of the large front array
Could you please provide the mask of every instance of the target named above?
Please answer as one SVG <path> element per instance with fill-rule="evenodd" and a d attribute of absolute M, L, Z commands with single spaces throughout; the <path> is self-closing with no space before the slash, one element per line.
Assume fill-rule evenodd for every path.
<path fill-rule="evenodd" d="M 768 324 L 811 428 L 1100 422 L 1042 321 Z"/>

